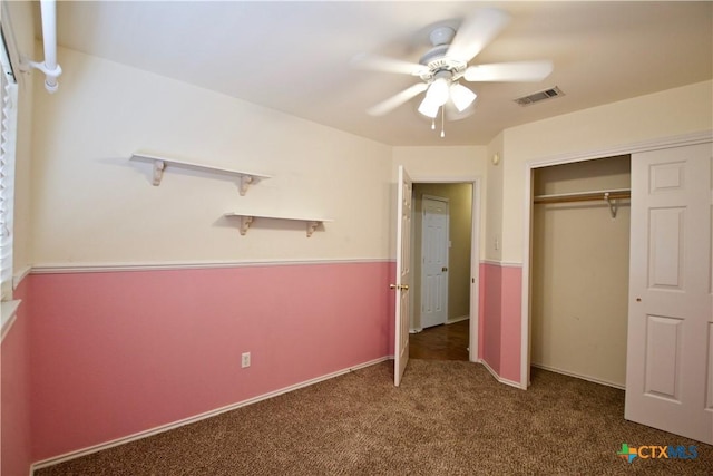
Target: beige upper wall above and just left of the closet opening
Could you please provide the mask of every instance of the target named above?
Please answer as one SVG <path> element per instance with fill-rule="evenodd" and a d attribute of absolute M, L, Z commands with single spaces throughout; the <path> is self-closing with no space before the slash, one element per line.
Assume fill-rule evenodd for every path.
<path fill-rule="evenodd" d="M 487 213 L 502 216 L 501 259 L 522 261 L 526 163 L 711 130 L 712 93 L 713 81 L 704 81 L 505 130 L 502 205 L 489 203 Z"/>

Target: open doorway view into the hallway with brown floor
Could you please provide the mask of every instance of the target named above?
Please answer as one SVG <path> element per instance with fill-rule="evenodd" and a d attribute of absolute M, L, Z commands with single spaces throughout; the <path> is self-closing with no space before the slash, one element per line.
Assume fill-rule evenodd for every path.
<path fill-rule="evenodd" d="M 471 360 L 473 192 L 472 182 L 413 183 L 410 358 Z"/>

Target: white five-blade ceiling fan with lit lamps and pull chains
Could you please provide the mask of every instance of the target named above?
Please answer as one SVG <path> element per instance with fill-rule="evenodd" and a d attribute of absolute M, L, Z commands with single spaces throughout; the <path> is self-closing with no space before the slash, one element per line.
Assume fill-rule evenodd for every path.
<path fill-rule="evenodd" d="M 395 94 L 367 110 L 372 116 L 383 116 L 426 91 L 419 113 L 436 119 L 439 110 L 455 107 L 463 113 L 477 95 L 460 84 L 466 81 L 540 81 L 553 71 L 549 60 L 497 62 L 472 65 L 475 58 L 509 22 L 510 16 L 499 9 L 484 8 L 455 29 L 434 28 L 429 39 L 432 43 L 418 64 L 379 55 L 359 55 L 353 59 L 358 68 L 417 76 L 420 82 Z M 433 124 L 434 128 L 434 124 Z M 443 132 L 441 130 L 441 137 Z"/>

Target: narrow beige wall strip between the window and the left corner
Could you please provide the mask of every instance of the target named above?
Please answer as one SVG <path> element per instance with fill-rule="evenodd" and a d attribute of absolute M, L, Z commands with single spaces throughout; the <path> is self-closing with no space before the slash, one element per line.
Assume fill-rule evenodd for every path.
<path fill-rule="evenodd" d="M 33 2 L 6 1 L 2 2 L 2 23 L 6 35 L 16 41 L 17 54 L 29 59 L 40 58 L 35 50 L 35 21 L 32 17 Z M 7 28 L 7 30 L 6 30 Z M 41 50 L 40 55 L 41 55 Z M 14 240 L 12 268 L 14 273 L 22 272 L 32 262 L 30 236 L 32 225 L 30 221 L 31 193 L 30 175 L 32 164 L 32 97 L 33 77 L 38 72 L 19 72 L 18 80 L 18 137 L 16 147 L 14 168 Z M 47 94 L 47 93 L 45 93 Z"/>

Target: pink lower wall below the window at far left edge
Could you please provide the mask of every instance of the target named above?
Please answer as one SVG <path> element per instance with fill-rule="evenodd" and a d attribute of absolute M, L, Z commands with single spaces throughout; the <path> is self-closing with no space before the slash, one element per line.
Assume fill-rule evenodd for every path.
<path fill-rule="evenodd" d="M 22 304 L 0 347 L 0 474 L 8 476 L 28 475 L 32 462 L 28 285 L 25 279 L 14 291 L 14 299 L 22 300 Z"/>

